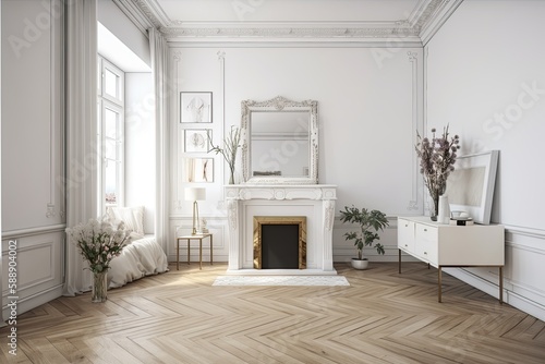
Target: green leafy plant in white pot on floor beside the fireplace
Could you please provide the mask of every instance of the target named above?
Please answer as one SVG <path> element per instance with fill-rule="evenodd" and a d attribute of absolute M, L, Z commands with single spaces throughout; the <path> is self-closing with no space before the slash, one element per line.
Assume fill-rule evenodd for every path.
<path fill-rule="evenodd" d="M 353 240 L 354 246 L 358 248 L 358 258 L 352 258 L 352 267 L 355 269 L 366 269 L 368 260 L 363 257 L 364 246 L 374 246 L 378 254 L 384 254 L 384 245 L 375 241 L 380 239 L 378 230 L 382 231 L 388 226 L 386 214 L 366 208 L 360 210 L 353 205 L 351 207 L 344 206 L 344 210 L 340 210 L 340 220 L 343 223 L 360 225 L 360 231 L 344 233 L 344 240 Z"/>

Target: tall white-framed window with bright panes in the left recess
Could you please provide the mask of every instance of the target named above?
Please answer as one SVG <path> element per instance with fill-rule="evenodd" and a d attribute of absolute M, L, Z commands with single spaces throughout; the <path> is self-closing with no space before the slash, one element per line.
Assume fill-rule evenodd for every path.
<path fill-rule="evenodd" d="M 123 206 L 124 73 L 98 57 L 99 206 Z"/>

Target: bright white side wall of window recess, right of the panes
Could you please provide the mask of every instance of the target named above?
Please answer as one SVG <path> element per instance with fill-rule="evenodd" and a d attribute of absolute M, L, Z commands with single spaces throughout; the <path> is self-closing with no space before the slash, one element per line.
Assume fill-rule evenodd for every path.
<path fill-rule="evenodd" d="M 144 232 L 155 225 L 155 98 L 152 73 L 125 73 L 125 205 L 144 206 Z"/>

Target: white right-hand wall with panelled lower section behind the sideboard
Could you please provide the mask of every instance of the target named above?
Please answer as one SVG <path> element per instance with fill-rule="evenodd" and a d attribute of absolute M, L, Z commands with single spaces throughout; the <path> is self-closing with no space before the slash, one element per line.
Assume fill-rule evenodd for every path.
<path fill-rule="evenodd" d="M 492 220 L 506 233 L 507 302 L 545 317 L 545 2 L 464 1 L 425 47 L 427 124 L 462 154 L 499 149 Z M 458 275 L 486 289 L 485 269 Z"/>

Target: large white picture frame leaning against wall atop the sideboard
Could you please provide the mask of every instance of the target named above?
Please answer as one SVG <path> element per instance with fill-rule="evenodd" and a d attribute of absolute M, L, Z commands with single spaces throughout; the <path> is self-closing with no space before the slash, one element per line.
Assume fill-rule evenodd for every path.
<path fill-rule="evenodd" d="M 450 211 L 464 211 L 475 223 L 489 225 L 499 150 L 458 157 L 447 181 Z"/>

